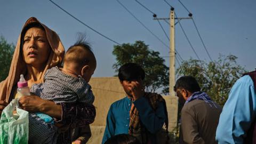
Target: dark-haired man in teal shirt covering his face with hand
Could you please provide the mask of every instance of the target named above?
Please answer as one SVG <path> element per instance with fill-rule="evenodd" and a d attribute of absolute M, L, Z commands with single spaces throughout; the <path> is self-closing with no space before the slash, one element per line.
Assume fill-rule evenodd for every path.
<path fill-rule="evenodd" d="M 161 95 L 145 92 L 145 71 L 135 63 L 126 63 L 118 70 L 126 97 L 109 108 L 102 143 L 117 134 L 130 134 L 141 143 L 156 143 L 156 133 L 167 126 L 167 111 Z"/>

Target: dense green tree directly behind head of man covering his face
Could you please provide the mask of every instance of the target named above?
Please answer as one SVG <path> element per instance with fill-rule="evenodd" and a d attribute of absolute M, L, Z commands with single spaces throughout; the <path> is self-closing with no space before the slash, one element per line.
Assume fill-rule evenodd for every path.
<path fill-rule="evenodd" d="M 163 93 L 169 93 L 169 68 L 164 65 L 165 60 L 159 56 L 159 52 L 149 50 L 142 41 L 135 41 L 134 44 L 114 45 L 113 54 L 116 56 L 113 65 L 116 72 L 127 62 L 138 63 L 146 73 L 144 83 L 147 92 L 163 88 Z"/>

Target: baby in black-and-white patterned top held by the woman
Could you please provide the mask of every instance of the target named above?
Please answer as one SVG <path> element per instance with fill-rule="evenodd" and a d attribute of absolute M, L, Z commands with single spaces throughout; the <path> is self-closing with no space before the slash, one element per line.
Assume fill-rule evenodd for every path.
<path fill-rule="evenodd" d="M 94 95 L 88 82 L 97 62 L 91 47 L 81 41 L 70 46 L 63 60 L 63 68 L 46 71 L 45 82 L 31 86 L 30 92 L 55 103 L 84 102 L 92 105 Z M 56 143 L 58 127 L 54 119 L 43 113 L 29 113 L 29 143 Z"/>

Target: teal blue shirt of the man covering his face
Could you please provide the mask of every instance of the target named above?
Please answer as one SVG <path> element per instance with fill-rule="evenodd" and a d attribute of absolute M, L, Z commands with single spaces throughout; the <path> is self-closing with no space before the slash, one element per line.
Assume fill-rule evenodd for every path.
<path fill-rule="evenodd" d="M 144 97 L 135 100 L 133 104 L 139 111 L 142 124 L 150 133 L 154 134 L 163 127 L 165 121 L 163 103 L 158 104 L 156 111 L 151 108 L 148 100 Z M 102 143 L 114 135 L 128 133 L 131 106 L 132 101 L 127 97 L 112 103 L 108 111 Z M 151 141 L 156 141 L 156 137 L 151 138 Z"/>

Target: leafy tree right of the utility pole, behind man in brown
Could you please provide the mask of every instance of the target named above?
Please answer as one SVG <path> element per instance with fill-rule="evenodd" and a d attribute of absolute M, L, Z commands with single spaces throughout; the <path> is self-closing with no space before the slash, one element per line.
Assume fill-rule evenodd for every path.
<path fill-rule="evenodd" d="M 218 61 L 206 63 L 204 61 L 189 59 L 183 61 L 177 69 L 180 76 L 194 76 L 202 91 L 220 105 L 224 105 L 228 94 L 236 80 L 246 71 L 236 63 L 235 55 L 220 55 Z"/>

